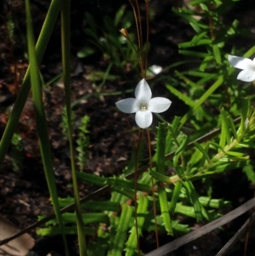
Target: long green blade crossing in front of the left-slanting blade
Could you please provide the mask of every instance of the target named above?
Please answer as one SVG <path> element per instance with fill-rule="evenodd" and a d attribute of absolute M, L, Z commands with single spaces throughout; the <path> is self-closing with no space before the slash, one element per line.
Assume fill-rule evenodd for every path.
<path fill-rule="evenodd" d="M 54 206 L 57 222 L 59 224 L 59 227 L 62 230 L 62 237 L 64 240 L 66 255 L 69 255 L 68 246 L 66 243 L 66 237 L 64 236 L 64 225 L 62 223 L 59 200 L 57 197 L 57 188 L 55 186 L 52 154 L 50 150 L 50 142 L 48 139 L 48 127 L 47 127 L 47 121 L 45 116 L 45 109 L 43 105 L 43 93 L 42 93 L 42 86 L 40 82 L 41 79 L 39 74 L 38 62 L 36 58 L 36 50 L 34 48 L 34 33 L 33 33 L 33 25 L 32 25 L 29 0 L 25 0 L 25 13 L 26 13 L 26 21 L 27 21 L 27 44 L 28 44 L 28 52 L 29 52 L 29 63 L 31 64 L 30 79 L 32 84 L 34 110 L 36 112 L 36 129 L 39 136 L 41 158 L 43 161 L 43 167 L 44 167 L 45 176 L 47 179 L 48 190 L 50 192 L 50 197 L 52 199 L 52 204 Z"/>

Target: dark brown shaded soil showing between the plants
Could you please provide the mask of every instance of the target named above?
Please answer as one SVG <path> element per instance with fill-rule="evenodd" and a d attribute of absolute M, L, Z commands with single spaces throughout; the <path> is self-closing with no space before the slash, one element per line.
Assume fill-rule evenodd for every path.
<path fill-rule="evenodd" d="M 105 3 L 106 2 L 106 3 Z M 86 20 L 85 11 L 94 15 L 96 22 L 101 24 L 104 15 L 113 15 L 116 10 L 128 1 L 72 1 L 71 8 L 71 62 L 72 62 L 72 100 L 80 100 L 82 96 L 91 94 L 91 97 L 80 100 L 73 108 L 75 111 L 75 131 L 77 136 L 80 119 L 85 114 L 90 117 L 90 144 L 89 160 L 86 172 L 96 173 L 99 176 L 113 176 L 122 173 L 131 156 L 132 143 L 126 119 L 122 113 L 115 109 L 115 102 L 124 95 L 101 96 L 96 94 L 95 85 L 88 79 L 91 71 L 105 71 L 108 63 L 99 53 L 85 59 L 78 59 L 77 52 L 86 40 L 83 33 Z M 180 60 L 177 43 L 187 41 L 193 36 L 191 27 L 171 12 L 171 6 L 182 5 L 182 1 L 152 0 L 151 6 L 155 11 L 155 17 L 150 24 L 149 64 L 168 66 Z M 43 19 L 47 13 L 49 1 L 31 1 L 34 14 L 34 30 L 39 34 Z M 237 47 L 249 49 L 254 45 L 255 24 L 254 1 L 240 1 L 235 4 L 224 17 L 226 22 L 233 19 L 240 20 L 240 27 L 251 29 L 252 36 L 247 40 L 237 40 L 233 43 Z M 14 35 L 11 36 L 6 29 L 8 17 L 11 15 L 15 20 Z M 119 29 L 119 28 L 118 28 Z M 25 52 L 25 13 L 24 1 L 4 0 L 0 3 L 0 137 L 4 132 L 8 115 L 11 112 L 13 102 L 17 96 L 22 77 L 27 68 Z M 252 40 L 253 39 L 253 40 Z M 45 82 L 54 78 L 61 72 L 61 41 L 60 22 L 54 27 L 54 33 L 50 39 L 45 57 L 41 63 L 41 73 Z M 117 81 L 106 81 L 103 93 L 114 93 L 122 91 L 123 88 L 134 88 L 139 76 L 134 72 L 126 72 L 130 82 L 120 79 Z M 159 93 L 156 91 L 156 94 Z M 126 94 L 127 96 L 128 94 Z M 168 97 L 169 98 L 169 97 Z M 182 116 L 187 107 L 180 105 L 179 100 L 171 98 L 174 107 L 166 114 L 167 121 L 175 115 Z M 69 160 L 68 142 L 62 135 L 62 110 L 64 108 L 64 90 L 61 84 L 45 88 L 45 107 L 49 126 L 50 140 L 55 166 L 55 179 L 60 197 L 72 195 L 71 171 Z M 20 229 L 24 229 L 37 221 L 38 215 L 49 215 L 52 206 L 49 201 L 47 183 L 43 174 L 40 160 L 40 150 L 36 135 L 36 124 L 34 123 L 34 110 L 31 98 L 27 100 L 24 112 L 17 126 L 17 132 L 22 135 L 22 159 L 18 168 L 14 170 L 11 162 L 11 148 L 4 159 L 0 172 L 0 209 L 1 215 L 6 216 Z M 135 126 L 132 115 L 128 115 L 131 126 Z M 155 121 L 155 123 L 157 120 Z M 154 125 L 153 125 L 154 126 Z M 152 132 L 153 133 L 153 132 Z M 253 196 L 252 189 L 246 176 L 235 170 L 230 174 L 213 179 L 214 198 L 231 200 L 233 207 L 238 207 Z M 96 188 L 87 184 L 80 184 L 80 196 L 91 193 Z M 108 197 L 108 195 L 105 195 Z M 229 223 L 224 230 L 215 230 L 198 241 L 190 243 L 171 255 L 215 255 L 228 239 L 237 232 L 238 228 L 245 222 L 249 215 L 241 216 Z M 202 225 L 203 223 L 196 224 Z M 35 230 L 31 232 L 34 236 Z M 255 233 L 253 233 L 255 234 Z M 254 237 L 252 236 L 252 239 Z M 156 248 L 153 235 L 146 234 L 142 239 L 144 252 Z M 161 237 L 161 245 L 168 243 L 170 237 Z M 231 255 L 242 255 L 244 241 L 240 241 Z M 254 248 L 250 247 L 252 252 Z M 253 253 L 254 254 L 254 253 Z M 252 253 L 249 255 L 253 255 Z"/>

